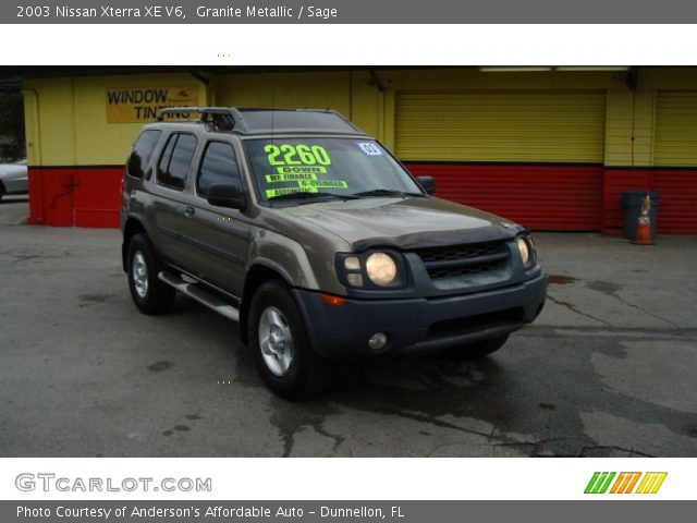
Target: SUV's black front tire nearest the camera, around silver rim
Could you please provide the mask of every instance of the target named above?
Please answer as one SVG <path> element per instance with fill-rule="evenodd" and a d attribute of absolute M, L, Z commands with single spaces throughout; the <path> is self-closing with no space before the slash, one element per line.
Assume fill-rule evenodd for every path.
<path fill-rule="evenodd" d="M 266 330 L 262 315 L 274 314 L 274 312 L 280 313 L 282 324 L 288 328 L 283 331 L 290 332 L 290 352 L 285 352 L 288 350 L 285 344 L 288 333 L 285 333 L 281 335 L 283 343 L 278 349 L 279 352 L 265 354 L 259 339 L 259 331 Z M 267 320 L 266 325 L 268 324 Z M 286 400 L 299 400 L 316 394 L 327 387 L 330 377 L 329 363 L 310 346 L 305 321 L 295 299 L 281 281 L 268 281 L 257 289 L 249 306 L 247 331 L 259 375 L 274 393 Z M 285 370 L 277 368 L 273 372 L 270 366 L 274 365 L 273 360 L 279 367 L 283 367 L 282 360 L 286 354 L 290 354 L 290 363 Z M 272 361 L 271 364 L 267 363 L 269 360 Z"/>

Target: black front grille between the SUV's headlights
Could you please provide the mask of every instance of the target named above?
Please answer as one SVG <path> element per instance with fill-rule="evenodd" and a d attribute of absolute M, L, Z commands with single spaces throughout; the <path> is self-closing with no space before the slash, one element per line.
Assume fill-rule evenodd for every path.
<path fill-rule="evenodd" d="M 509 262 L 505 242 L 449 245 L 416 251 L 433 280 L 488 272 Z"/>

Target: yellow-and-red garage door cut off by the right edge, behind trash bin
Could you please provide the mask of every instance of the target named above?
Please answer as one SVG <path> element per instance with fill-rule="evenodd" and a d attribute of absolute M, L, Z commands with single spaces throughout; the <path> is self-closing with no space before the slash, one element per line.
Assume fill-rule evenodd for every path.
<path fill-rule="evenodd" d="M 656 97 L 651 188 L 659 192 L 659 232 L 697 232 L 697 92 Z"/>

